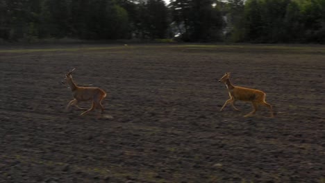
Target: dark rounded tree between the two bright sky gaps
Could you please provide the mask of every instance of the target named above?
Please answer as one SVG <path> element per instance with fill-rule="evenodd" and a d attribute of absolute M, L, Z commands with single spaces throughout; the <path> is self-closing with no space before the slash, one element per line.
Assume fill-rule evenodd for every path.
<path fill-rule="evenodd" d="M 213 0 L 172 1 L 172 19 L 184 41 L 220 40 L 222 13 L 213 3 Z"/>

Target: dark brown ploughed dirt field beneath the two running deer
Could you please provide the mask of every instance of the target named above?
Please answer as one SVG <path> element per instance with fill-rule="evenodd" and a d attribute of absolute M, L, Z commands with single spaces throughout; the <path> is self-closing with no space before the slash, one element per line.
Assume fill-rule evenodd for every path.
<path fill-rule="evenodd" d="M 0 49 L 0 182 L 325 182 L 324 46 Z M 74 67 L 108 92 L 101 118 L 64 111 Z M 219 112 L 225 72 L 276 117 L 244 118 L 244 102 Z"/>

